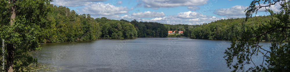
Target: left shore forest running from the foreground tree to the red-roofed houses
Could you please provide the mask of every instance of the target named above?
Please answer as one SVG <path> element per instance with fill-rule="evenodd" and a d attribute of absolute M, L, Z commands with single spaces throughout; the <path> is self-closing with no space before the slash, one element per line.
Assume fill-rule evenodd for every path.
<path fill-rule="evenodd" d="M 92 18 L 90 14 L 77 14 L 69 8 L 51 4 L 53 12 L 48 15 L 51 28 L 42 43 L 68 42 L 95 39 L 117 39 L 137 37 L 167 37 L 168 30 L 184 31 L 190 37 L 191 28 L 199 25 L 169 25 L 156 22 L 127 21 Z"/>

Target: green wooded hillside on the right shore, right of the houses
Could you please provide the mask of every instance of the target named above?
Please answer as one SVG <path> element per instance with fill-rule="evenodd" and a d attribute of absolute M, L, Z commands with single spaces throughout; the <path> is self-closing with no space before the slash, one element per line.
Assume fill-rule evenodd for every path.
<path fill-rule="evenodd" d="M 252 29 L 256 29 L 263 24 L 268 24 L 272 18 L 272 16 L 255 16 L 248 19 L 248 21 L 245 21 L 246 18 L 217 20 L 192 29 L 190 38 L 231 40 L 233 37 L 236 37 L 241 39 L 244 32 L 253 32 Z M 271 34 L 266 34 L 261 38 L 263 41 L 273 40 Z"/>

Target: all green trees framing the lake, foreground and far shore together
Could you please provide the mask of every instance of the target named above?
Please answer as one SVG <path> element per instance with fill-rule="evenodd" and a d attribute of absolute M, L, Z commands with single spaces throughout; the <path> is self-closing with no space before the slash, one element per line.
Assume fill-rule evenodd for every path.
<path fill-rule="evenodd" d="M 2 57 L 3 61 L 4 58 L 7 59 L 0 71 L 29 71 L 31 68 L 28 66 L 37 66 L 37 58 L 33 58 L 28 52 L 41 50 L 40 43 L 169 37 L 168 31 L 184 32 L 171 37 L 231 40 L 231 47 L 225 50 L 223 58 L 227 67 L 233 68 L 233 72 L 245 71 L 244 65 L 253 62 L 252 56 L 258 56 L 258 53 L 266 59 L 263 63 L 267 62 L 267 67 L 263 63 L 257 66 L 254 64 L 255 67 L 250 67 L 247 71 L 287 72 L 290 69 L 288 0 L 254 0 L 245 10 L 246 18 L 222 19 L 200 25 L 170 25 L 106 17 L 94 19 L 90 14 L 77 14 L 69 8 L 52 5 L 52 0 L 0 1 L 0 38 L 3 41 L 2 48 L 6 48 L 2 54 L 5 56 Z M 280 12 L 268 9 L 265 11 L 270 13 L 268 16 L 252 16 L 261 7 L 270 7 L 280 1 Z M 266 5 L 259 7 L 257 4 L 261 4 L 260 2 Z M 262 48 L 260 41 L 272 41 L 269 47 L 271 51 Z"/>

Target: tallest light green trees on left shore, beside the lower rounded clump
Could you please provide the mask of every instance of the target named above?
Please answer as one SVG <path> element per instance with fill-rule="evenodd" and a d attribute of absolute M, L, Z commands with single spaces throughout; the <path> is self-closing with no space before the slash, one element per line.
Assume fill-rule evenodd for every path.
<path fill-rule="evenodd" d="M 101 29 L 90 14 L 77 14 L 62 6 L 53 6 L 54 12 L 49 15 L 52 29 L 47 42 L 67 42 L 77 40 L 94 40 L 100 38 Z"/>

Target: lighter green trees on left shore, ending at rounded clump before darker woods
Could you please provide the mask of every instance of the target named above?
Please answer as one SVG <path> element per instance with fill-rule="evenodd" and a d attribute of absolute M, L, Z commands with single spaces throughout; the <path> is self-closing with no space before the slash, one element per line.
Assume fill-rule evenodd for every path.
<path fill-rule="evenodd" d="M 50 6 L 54 8 L 54 12 L 48 17 L 52 29 L 44 43 L 137 37 L 136 29 L 129 22 L 105 17 L 93 19 L 90 14 L 80 15 L 63 6 Z"/>

